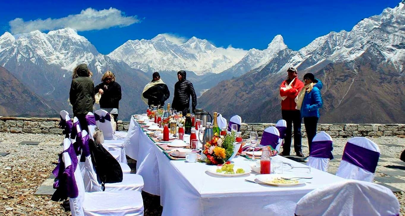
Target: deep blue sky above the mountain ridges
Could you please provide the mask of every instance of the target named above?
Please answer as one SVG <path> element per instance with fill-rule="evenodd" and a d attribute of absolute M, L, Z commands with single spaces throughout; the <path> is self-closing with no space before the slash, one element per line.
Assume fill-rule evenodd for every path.
<path fill-rule="evenodd" d="M 196 36 L 217 47 L 232 45 L 245 50 L 265 49 L 275 35 L 281 34 L 289 48 L 298 50 L 330 31 L 351 30 L 361 19 L 380 14 L 386 7 L 393 8 L 399 2 L 13 0 L 2 3 L 0 34 L 12 32 L 9 23 L 12 20 L 14 34 L 28 29 L 24 25 L 30 20 L 34 20 L 30 23 L 32 28 L 36 27 L 35 20 L 43 22 L 48 18 L 52 20 L 43 22 L 42 26 L 52 26 L 57 21 L 77 26 L 81 25 L 77 15 L 82 10 L 88 9 L 87 15 L 91 17 L 93 13 L 99 14 L 99 11 L 107 9 L 103 13 L 109 12 L 112 16 L 108 22 L 96 16 L 94 19 L 98 20 L 78 27 L 82 28 L 78 34 L 85 36 L 103 54 L 110 53 L 128 40 L 151 39 L 160 33 L 174 34 L 183 39 Z M 16 18 L 22 20 L 16 21 Z"/>

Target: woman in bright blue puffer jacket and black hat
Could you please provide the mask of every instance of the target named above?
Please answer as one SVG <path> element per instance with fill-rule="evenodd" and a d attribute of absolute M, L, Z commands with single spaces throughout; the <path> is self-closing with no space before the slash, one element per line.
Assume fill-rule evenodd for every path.
<path fill-rule="evenodd" d="M 305 131 L 307 132 L 308 147 L 311 150 L 311 143 L 313 137 L 316 135 L 316 126 L 319 119 L 319 108 L 322 107 L 322 82 L 315 79 L 312 73 L 304 75 L 305 87 L 301 91 L 301 116 L 304 118 Z M 300 97 L 298 94 L 297 98 Z"/>

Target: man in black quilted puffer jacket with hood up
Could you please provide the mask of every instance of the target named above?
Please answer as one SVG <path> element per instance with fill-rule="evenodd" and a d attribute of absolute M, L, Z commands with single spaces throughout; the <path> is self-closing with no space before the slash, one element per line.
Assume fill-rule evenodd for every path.
<path fill-rule="evenodd" d="M 179 81 L 175 84 L 175 94 L 172 107 L 177 111 L 182 111 L 183 115 L 190 113 L 190 96 L 192 99 L 192 112 L 194 113 L 197 105 L 197 96 L 194 91 L 193 83 L 186 79 L 185 71 L 177 72 Z"/>

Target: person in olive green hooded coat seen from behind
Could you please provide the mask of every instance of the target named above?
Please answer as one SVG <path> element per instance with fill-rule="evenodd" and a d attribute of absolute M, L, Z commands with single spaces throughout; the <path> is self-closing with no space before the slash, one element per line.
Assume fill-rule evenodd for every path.
<path fill-rule="evenodd" d="M 87 130 L 86 114 L 93 112 L 94 82 L 89 77 L 90 71 L 87 64 L 80 64 L 72 74 L 72 84 L 70 85 L 69 100 L 73 106 L 73 116 L 77 117 L 82 130 Z"/>

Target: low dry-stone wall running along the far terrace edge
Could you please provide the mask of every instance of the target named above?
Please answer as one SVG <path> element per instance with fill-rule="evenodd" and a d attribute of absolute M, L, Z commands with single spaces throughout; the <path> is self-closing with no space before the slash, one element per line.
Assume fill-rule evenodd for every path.
<path fill-rule="evenodd" d="M 19 118 L 1 117 L 0 132 L 8 133 L 50 133 L 62 134 L 58 127 L 58 118 Z M 265 128 L 274 126 L 270 123 L 242 123 L 243 138 L 248 138 L 251 131 L 262 136 Z M 118 120 L 118 130 L 128 130 L 129 122 Z M 303 137 L 306 137 L 305 126 L 301 125 Z M 331 137 L 381 137 L 405 135 L 405 124 L 318 124 L 318 131 L 325 131 Z"/>

